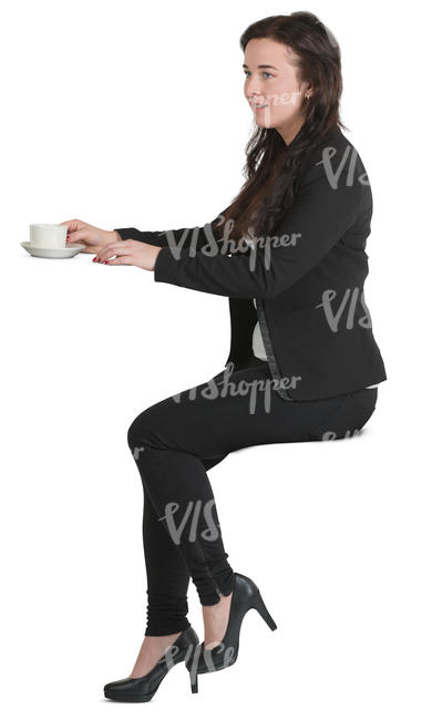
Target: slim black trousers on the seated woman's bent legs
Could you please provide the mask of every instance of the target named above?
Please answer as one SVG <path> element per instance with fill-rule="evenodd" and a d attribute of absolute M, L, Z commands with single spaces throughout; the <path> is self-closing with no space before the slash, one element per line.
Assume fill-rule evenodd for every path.
<path fill-rule="evenodd" d="M 210 467 L 249 445 L 352 436 L 376 407 L 377 388 L 325 400 L 282 400 L 260 360 L 229 372 L 165 398 L 128 429 L 144 490 L 145 635 L 169 635 L 189 626 L 191 577 L 202 605 L 213 605 L 233 589 L 207 476 Z"/>

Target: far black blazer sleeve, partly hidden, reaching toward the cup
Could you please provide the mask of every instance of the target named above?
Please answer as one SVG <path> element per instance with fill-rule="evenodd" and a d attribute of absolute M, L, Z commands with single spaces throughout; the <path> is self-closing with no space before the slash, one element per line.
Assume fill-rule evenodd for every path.
<path fill-rule="evenodd" d="M 122 240 L 138 240 L 140 243 L 148 243 L 156 247 L 172 248 L 174 256 L 183 248 L 189 249 L 189 256 L 194 257 L 194 250 L 202 250 L 203 247 L 208 246 L 214 254 L 218 253 L 222 248 L 223 240 L 215 237 L 212 223 L 217 223 L 224 218 L 224 213 L 219 213 L 217 217 L 210 223 L 203 225 L 203 227 L 181 227 L 175 230 L 137 230 L 136 227 L 115 227 Z M 217 223 L 218 224 L 218 223 Z"/>

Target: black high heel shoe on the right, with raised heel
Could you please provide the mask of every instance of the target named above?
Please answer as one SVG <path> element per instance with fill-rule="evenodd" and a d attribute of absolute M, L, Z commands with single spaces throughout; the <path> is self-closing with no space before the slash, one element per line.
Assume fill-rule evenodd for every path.
<path fill-rule="evenodd" d="M 270 630 L 276 630 L 277 625 L 267 610 L 261 594 L 254 580 L 240 573 L 234 573 L 234 590 L 228 625 L 222 641 L 216 647 L 209 649 L 204 647 L 204 642 L 199 642 L 186 660 L 192 692 L 198 692 L 198 675 L 223 670 L 235 664 L 238 656 L 243 618 L 251 608 L 259 613 Z"/>

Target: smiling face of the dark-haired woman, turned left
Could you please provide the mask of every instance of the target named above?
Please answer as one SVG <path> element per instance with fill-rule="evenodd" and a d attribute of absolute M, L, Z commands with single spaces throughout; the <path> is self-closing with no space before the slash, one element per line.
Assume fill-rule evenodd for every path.
<path fill-rule="evenodd" d="M 300 115 L 304 95 L 311 95 L 312 91 L 306 82 L 299 85 L 287 52 L 287 45 L 268 38 L 254 38 L 245 49 L 244 71 L 245 97 L 255 122 L 261 127 L 275 127 L 288 145 L 304 123 Z"/>

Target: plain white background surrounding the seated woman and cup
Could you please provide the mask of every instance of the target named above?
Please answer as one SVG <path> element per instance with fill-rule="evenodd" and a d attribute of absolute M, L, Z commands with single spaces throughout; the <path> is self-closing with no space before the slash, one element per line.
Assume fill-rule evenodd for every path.
<path fill-rule="evenodd" d="M 253 131 L 239 37 L 316 12 L 341 47 L 346 133 L 374 198 L 364 290 L 388 381 L 359 436 L 255 446 L 209 472 L 249 613 L 235 666 L 184 665 L 155 717 L 431 717 L 430 45 L 423 3 L 16 2 L 1 12 L 2 713 L 142 717 L 103 686 L 145 627 L 145 408 L 219 372 L 228 299 L 92 255 L 33 258 L 30 223 L 204 225 L 243 183 Z M 426 30 L 428 29 L 428 30 Z M 204 328 L 199 333 L 196 328 Z M 268 471 L 271 462 L 271 472 Z M 258 526 L 259 521 L 259 526 Z M 193 584 L 189 619 L 203 639 Z"/>

